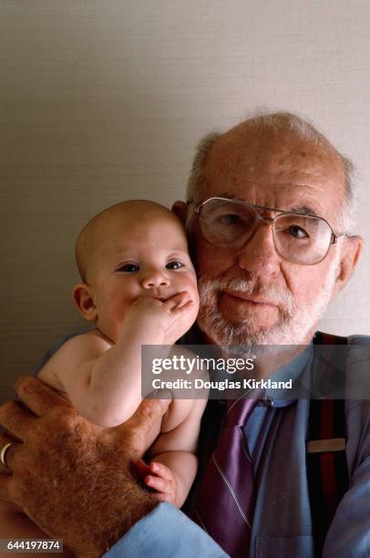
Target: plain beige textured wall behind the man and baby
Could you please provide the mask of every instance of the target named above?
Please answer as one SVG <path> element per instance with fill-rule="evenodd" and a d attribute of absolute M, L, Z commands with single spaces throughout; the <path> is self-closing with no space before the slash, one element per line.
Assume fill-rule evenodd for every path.
<path fill-rule="evenodd" d="M 256 108 L 308 117 L 355 161 L 370 244 L 368 0 L 1 0 L 0 397 L 58 337 L 77 232 L 183 197 L 195 143 Z M 323 327 L 370 334 L 369 249 Z"/>

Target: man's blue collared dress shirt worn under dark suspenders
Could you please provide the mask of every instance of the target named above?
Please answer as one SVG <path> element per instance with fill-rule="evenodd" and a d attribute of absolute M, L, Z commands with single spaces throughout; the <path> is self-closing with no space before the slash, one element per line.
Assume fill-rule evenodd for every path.
<path fill-rule="evenodd" d="M 370 346 L 370 337 L 350 336 L 348 343 Z M 283 375 L 304 381 L 311 362 L 309 352 L 304 353 L 284 367 Z M 245 555 L 313 558 L 305 448 L 310 400 L 293 400 L 289 394 L 282 398 L 281 393 L 277 398 L 273 390 L 266 390 L 265 395 L 244 429 L 256 493 L 251 549 Z M 348 400 L 345 412 L 350 486 L 335 512 L 323 558 L 369 558 L 370 400 Z M 105 554 L 107 558 L 146 555 L 211 558 L 227 554 L 181 511 L 160 503 Z"/>

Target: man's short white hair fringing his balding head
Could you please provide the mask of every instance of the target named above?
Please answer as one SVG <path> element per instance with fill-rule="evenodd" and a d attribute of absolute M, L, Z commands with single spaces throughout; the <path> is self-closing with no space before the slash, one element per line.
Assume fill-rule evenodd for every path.
<path fill-rule="evenodd" d="M 245 122 L 248 122 L 248 125 L 255 129 L 256 132 L 265 130 L 287 132 L 297 139 L 307 141 L 313 145 L 331 146 L 333 148 L 329 140 L 326 140 L 324 135 L 315 129 L 312 124 L 289 112 L 257 114 L 254 118 L 245 120 Z M 200 200 L 205 181 L 204 168 L 206 160 L 212 147 L 220 137 L 221 132 L 212 131 L 200 140 L 197 145 L 188 181 L 188 201 L 198 202 Z M 349 158 L 345 157 L 338 150 L 334 149 L 334 151 L 342 161 L 344 169 L 344 202 L 338 218 L 338 225 L 342 228 L 340 233 L 349 233 L 355 221 L 355 167 Z"/>

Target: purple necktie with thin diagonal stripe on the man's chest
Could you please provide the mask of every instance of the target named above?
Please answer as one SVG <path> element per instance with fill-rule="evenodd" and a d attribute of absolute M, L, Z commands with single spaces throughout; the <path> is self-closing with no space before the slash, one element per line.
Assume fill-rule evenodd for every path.
<path fill-rule="evenodd" d="M 253 471 L 242 427 L 261 399 L 228 400 L 226 424 L 200 482 L 195 519 L 224 551 L 249 556 Z"/>

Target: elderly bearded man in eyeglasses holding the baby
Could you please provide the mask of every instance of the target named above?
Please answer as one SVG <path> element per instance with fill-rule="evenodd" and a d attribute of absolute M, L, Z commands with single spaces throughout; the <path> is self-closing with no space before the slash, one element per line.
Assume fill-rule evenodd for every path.
<path fill-rule="evenodd" d="M 200 143 L 189 201 L 174 205 L 200 276 L 199 330 L 192 341 L 242 348 L 312 342 L 361 251 L 361 239 L 350 235 L 350 174 L 350 162 L 324 136 L 289 114 L 246 120 Z M 308 366 L 301 356 L 293 361 L 295 376 Z M 24 443 L 5 448 L 9 437 L 0 439 L 7 465 L 0 497 L 21 505 L 77 555 L 226 555 L 180 511 L 140 491 L 128 472 L 145 431 L 168 403 L 145 401 L 125 425 L 107 430 L 78 417 L 35 378 L 20 380 L 17 393 L 22 403 L 6 403 L 0 419 Z M 350 488 L 323 555 L 358 558 L 370 555 L 369 407 L 352 401 L 345 410 Z M 245 496 L 228 484 L 239 518 L 211 480 L 223 432 L 214 442 L 194 501 L 199 522 L 231 556 L 305 558 L 319 548 L 306 475 L 308 414 L 307 400 L 262 398 L 238 425 L 245 437 L 239 453 L 248 444 L 248 463 L 238 461 L 239 450 L 231 457 L 231 449 L 222 449 L 223 472 L 236 460 L 245 484 L 253 483 L 253 497 L 252 489 Z M 211 443 L 210 412 L 204 424 L 200 450 Z"/>

